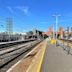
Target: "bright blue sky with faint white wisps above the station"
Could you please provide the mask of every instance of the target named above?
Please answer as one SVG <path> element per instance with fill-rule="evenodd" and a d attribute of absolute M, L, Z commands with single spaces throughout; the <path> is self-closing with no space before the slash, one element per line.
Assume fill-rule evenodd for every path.
<path fill-rule="evenodd" d="M 0 31 L 6 30 L 6 18 L 13 19 L 13 31 L 33 29 L 48 31 L 49 27 L 72 27 L 72 0 L 0 0 Z"/>

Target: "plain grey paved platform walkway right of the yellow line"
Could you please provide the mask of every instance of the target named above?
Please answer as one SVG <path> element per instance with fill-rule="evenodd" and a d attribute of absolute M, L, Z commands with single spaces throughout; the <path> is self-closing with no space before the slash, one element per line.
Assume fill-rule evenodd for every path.
<path fill-rule="evenodd" d="M 55 45 L 48 45 L 41 72 L 72 72 L 72 56 Z"/>

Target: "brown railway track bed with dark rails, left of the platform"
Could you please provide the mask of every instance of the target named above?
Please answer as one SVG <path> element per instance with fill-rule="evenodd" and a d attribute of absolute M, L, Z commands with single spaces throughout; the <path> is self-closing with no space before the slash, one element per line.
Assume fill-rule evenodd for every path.
<path fill-rule="evenodd" d="M 33 49 L 40 41 L 33 41 L 25 45 L 16 46 L 0 51 L 0 72 L 6 72 L 13 64 Z"/>

